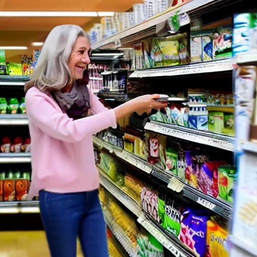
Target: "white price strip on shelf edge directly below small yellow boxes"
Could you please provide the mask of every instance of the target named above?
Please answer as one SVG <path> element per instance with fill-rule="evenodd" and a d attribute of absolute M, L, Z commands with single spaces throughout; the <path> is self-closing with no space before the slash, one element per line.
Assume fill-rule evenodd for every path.
<path fill-rule="evenodd" d="M 115 154 L 120 159 L 137 167 L 138 169 L 146 172 L 147 174 L 153 173 L 152 167 L 150 167 L 150 165 L 148 165 L 147 162 L 145 162 L 144 160 L 141 160 L 140 158 L 134 156 L 133 154 L 130 154 L 124 150 L 122 152 L 115 152 Z"/>

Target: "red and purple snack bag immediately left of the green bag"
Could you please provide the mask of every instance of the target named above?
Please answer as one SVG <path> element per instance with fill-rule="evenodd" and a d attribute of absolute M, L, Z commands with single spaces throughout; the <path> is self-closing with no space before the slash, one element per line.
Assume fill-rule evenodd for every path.
<path fill-rule="evenodd" d="M 223 161 L 204 162 L 197 174 L 198 187 L 204 194 L 217 198 L 219 194 L 218 167 L 225 163 Z"/>

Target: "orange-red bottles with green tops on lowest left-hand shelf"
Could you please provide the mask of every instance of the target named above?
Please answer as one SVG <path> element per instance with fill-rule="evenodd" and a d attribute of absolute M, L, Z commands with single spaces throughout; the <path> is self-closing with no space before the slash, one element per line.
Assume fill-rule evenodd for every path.
<path fill-rule="evenodd" d="M 31 171 L 1 171 L 0 201 L 24 201 L 30 188 Z"/>

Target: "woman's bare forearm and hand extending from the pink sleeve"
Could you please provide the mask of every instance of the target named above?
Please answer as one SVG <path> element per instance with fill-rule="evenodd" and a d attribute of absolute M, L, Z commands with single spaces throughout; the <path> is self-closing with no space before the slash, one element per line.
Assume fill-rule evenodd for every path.
<path fill-rule="evenodd" d="M 146 94 L 141 95 L 133 100 L 127 101 L 113 110 L 116 115 L 116 119 L 119 119 L 127 114 L 137 112 L 142 115 L 144 112 L 150 113 L 152 109 L 162 109 L 167 107 L 168 102 L 159 102 L 155 99 L 160 98 L 159 94 Z"/>

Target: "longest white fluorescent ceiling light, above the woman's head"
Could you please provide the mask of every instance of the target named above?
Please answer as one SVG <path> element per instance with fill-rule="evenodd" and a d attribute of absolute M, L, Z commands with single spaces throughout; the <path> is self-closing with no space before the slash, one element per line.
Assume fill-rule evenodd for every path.
<path fill-rule="evenodd" d="M 0 12 L 0 17 L 97 17 L 97 12 Z"/>

